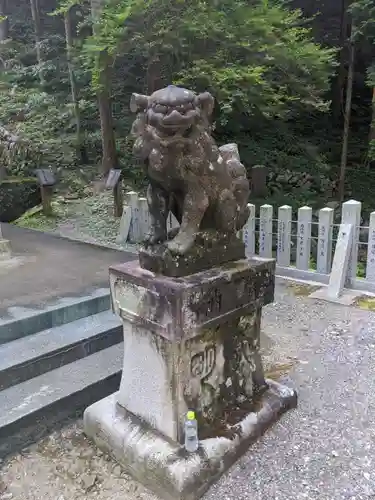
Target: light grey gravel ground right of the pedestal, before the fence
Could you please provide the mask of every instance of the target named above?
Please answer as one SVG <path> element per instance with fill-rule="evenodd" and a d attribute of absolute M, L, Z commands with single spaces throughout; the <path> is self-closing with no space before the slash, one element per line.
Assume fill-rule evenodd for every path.
<path fill-rule="evenodd" d="M 277 351 L 299 363 L 299 407 L 215 485 L 206 500 L 375 499 L 375 315 L 278 287 L 264 315 Z"/>

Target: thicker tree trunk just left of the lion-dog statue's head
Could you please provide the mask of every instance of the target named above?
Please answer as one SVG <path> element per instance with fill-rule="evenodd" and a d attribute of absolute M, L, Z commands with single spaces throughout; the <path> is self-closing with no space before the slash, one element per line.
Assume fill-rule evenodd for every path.
<path fill-rule="evenodd" d="M 94 20 L 94 35 L 97 33 L 98 20 L 100 19 L 100 13 L 103 5 L 103 0 L 91 0 L 91 14 Z M 102 132 L 102 173 L 104 176 L 107 176 L 111 168 L 117 167 L 117 151 L 110 97 L 111 65 L 110 58 L 106 52 L 102 52 L 99 56 L 99 68 L 100 76 L 97 98 Z"/>

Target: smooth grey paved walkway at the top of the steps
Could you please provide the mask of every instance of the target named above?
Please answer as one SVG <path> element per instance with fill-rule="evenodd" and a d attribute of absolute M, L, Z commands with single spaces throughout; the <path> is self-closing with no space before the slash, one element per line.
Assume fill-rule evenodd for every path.
<path fill-rule="evenodd" d="M 107 287 L 109 266 L 134 259 L 134 254 L 12 225 L 2 224 L 2 231 L 14 259 L 0 261 L 0 310 Z"/>

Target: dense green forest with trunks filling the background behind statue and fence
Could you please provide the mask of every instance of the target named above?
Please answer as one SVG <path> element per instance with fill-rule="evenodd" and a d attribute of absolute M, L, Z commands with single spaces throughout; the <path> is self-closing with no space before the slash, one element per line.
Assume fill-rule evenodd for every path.
<path fill-rule="evenodd" d="M 130 96 L 176 83 L 215 96 L 267 203 L 372 210 L 374 37 L 375 0 L 0 0 L 0 180 L 51 166 L 79 193 L 121 168 L 142 190 Z"/>

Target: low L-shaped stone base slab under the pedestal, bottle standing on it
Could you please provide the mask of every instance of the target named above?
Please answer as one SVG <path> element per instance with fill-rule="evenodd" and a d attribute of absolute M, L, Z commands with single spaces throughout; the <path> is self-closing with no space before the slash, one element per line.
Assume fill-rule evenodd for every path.
<path fill-rule="evenodd" d="M 197 453 L 184 449 L 117 404 L 117 393 L 84 414 L 84 430 L 130 475 L 163 500 L 196 500 L 284 412 L 297 406 L 293 389 L 267 380 L 258 410 L 233 426 L 233 437 L 205 439 Z"/>

